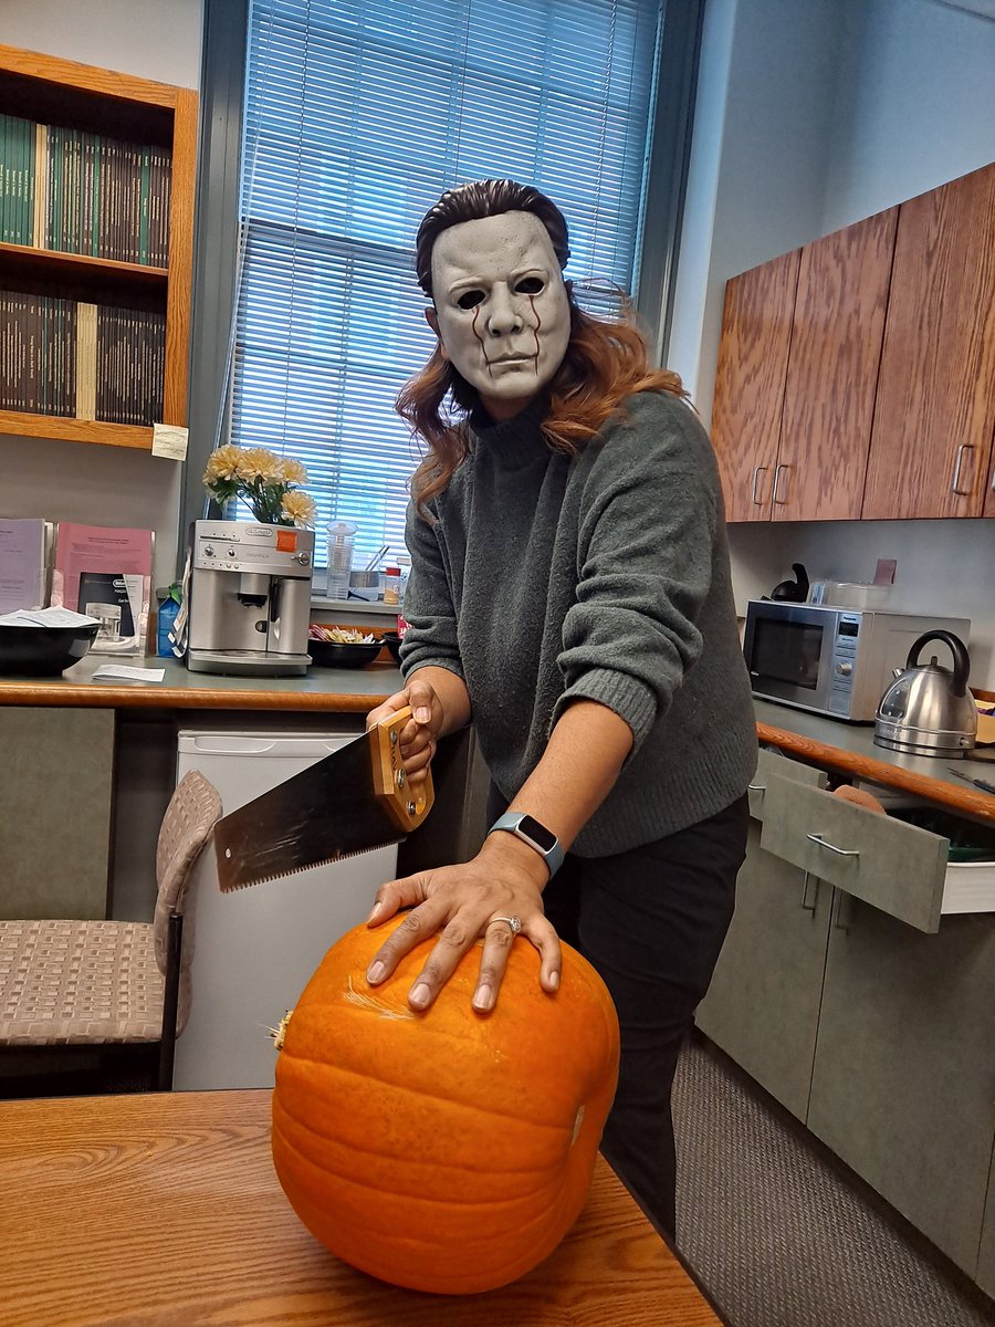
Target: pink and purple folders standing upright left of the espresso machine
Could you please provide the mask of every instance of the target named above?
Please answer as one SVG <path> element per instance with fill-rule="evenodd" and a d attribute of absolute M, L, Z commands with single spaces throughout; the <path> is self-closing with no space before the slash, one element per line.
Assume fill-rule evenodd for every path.
<path fill-rule="evenodd" d="M 0 617 L 68 608 L 101 624 L 97 653 L 141 654 L 154 543 L 151 529 L 0 516 Z"/>

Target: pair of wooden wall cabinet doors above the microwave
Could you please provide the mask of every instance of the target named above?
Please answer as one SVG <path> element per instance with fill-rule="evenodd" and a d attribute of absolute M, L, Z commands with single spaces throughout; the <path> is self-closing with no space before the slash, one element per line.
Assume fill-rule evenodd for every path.
<path fill-rule="evenodd" d="M 860 516 L 897 212 L 728 283 L 712 438 L 730 520 Z"/>

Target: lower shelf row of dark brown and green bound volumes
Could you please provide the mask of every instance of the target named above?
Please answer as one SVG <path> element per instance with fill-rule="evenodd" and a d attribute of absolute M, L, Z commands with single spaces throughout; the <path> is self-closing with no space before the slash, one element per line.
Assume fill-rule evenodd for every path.
<path fill-rule="evenodd" d="M 0 410 L 151 425 L 165 378 L 165 314 L 0 291 Z"/>

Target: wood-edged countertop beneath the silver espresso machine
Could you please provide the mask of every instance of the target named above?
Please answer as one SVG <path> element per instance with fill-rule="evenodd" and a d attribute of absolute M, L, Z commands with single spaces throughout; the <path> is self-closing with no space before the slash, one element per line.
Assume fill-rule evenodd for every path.
<path fill-rule="evenodd" d="M 111 662 L 165 669 L 166 677 L 162 682 L 94 681 L 94 671 Z M 61 677 L 0 677 L 0 705 L 366 714 L 402 685 L 391 662 L 362 669 L 312 666 L 304 677 L 220 677 L 191 673 L 179 660 L 89 654 Z"/>

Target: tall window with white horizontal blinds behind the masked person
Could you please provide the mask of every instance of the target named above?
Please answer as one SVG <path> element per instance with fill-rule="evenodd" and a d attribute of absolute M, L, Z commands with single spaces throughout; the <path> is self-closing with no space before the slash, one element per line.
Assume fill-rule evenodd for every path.
<path fill-rule="evenodd" d="M 432 338 L 414 236 L 443 190 L 533 183 L 566 275 L 633 292 L 659 0 L 255 0 L 231 441 L 295 456 L 357 564 L 403 561 L 417 445 L 395 415 Z"/>

